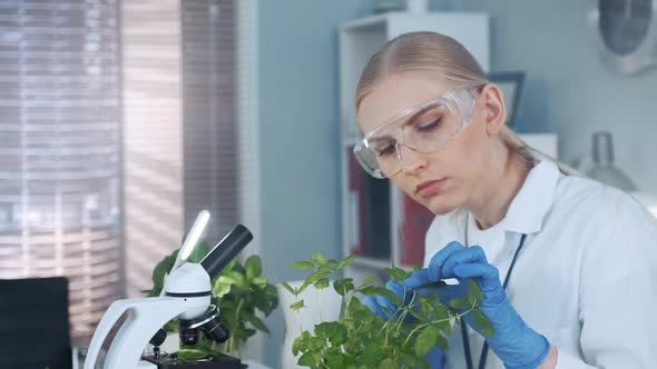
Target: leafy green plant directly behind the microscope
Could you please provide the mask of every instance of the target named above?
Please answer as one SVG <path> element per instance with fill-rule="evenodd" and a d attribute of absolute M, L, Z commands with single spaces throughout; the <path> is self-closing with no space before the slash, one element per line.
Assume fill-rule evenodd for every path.
<path fill-rule="evenodd" d="M 145 291 L 148 297 L 159 296 L 165 275 L 171 269 L 179 250 L 164 258 L 153 270 L 154 288 Z M 206 242 L 199 242 L 188 258 L 189 262 L 198 262 L 209 251 Z M 232 353 L 238 350 L 256 330 L 269 333 L 265 322 L 257 317 L 268 317 L 278 306 L 278 293 L 267 278 L 263 276 L 263 265 L 258 256 L 249 256 L 244 265 L 231 261 L 218 276 L 212 279 L 213 303 L 217 305 L 220 318 L 231 330 L 231 338 L 224 343 L 209 341 L 199 335 L 198 342 L 193 347 L 182 348 L 179 356 L 198 356 L 212 352 Z M 165 330 L 175 331 L 176 320 L 169 321 Z"/>

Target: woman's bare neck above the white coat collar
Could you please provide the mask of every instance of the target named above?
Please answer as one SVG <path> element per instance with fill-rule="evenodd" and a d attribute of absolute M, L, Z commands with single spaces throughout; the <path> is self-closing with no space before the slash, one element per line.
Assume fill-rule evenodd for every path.
<path fill-rule="evenodd" d="M 488 167 L 479 191 L 467 205 L 480 229 L 488 229 L 504 219 L 530 170 L 506 147 L 498 157 L 500 160 L 494 160 L 496 163 Z"/>

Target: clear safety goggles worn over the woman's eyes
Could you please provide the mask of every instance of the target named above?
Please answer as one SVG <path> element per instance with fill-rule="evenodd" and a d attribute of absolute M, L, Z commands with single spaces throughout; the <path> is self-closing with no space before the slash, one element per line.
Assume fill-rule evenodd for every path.
<path fill-rule="evenodd" d="M 440 150 L 470 124 L 477 89 L 459 89 L 409 108 L 360 140 L 353 152 L 375 178 L 402 170 L 402 144 L 420 153 Z"/>

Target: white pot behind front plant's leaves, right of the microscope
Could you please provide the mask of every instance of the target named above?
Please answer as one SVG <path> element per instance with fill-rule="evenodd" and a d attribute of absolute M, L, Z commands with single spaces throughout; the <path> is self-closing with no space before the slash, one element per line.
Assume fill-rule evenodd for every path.
<path fill-rule="evenodd" d="M 293 288 L 300 288 L 303 281 L 288 282 Z M 332 283 L 333 285 L 333 283 Z M 336 321 L 340 319 L 342 308 L 342 296 L 337 295 L 333 286 L 317 290 L 313 286 L 306 288 L 298 297 L 304 301 L 305 308 L 293 311 L 290 305 L 296 302 L 294 295 L 290 293 L 283 286 L 277 285 L 278 306 L 285 318 L 285 339 L 281 351 L 281 368 L 304 368 L 296 365 L 298 357 L 292 353 L 294 340 L 304 330 L 314 330 L 322 321 Z"/>

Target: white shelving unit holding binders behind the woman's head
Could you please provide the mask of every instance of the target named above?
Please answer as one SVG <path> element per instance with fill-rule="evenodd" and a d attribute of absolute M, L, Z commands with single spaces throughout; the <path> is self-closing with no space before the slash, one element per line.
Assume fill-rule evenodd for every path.
<path fill-rule="evenodd" d="M 408 258 L 401 247 L 404 225 L 409 221 L 402 211 L 408 207 L 404 202 L 405 197 L 389 186 L 388 180 L 366 178 L 364 171 L 354 167 L 351 148 L 357 139 L 354 101 L 363 68 L 370 57 L 385 42 L 412 31 L 434 31 L 458 40 L 474 56 L 484 71 L 490 71 L 489 17 L 484 13 L 392 12 L 340 26 L 342 241 L 345 256 L 354 253 L 355 249 L 361 247 L 361 252 L 356 252 L 359 258 L 347 269 L 347 275 L 356 282 L 364 277 L 376 275 L 382 268 L 393 263 L 410 267 L 404 262 Z M 376 209 L 363 211 L 365 200 L 360 195 L 365 193 L 365 190 L 354 191 L 354 187 L 366 188 L 372 197 L 376 197 L 367 199 L 369 207 Z M 369 233 L 363 236 L 364 232 Z M 413 235 L 413 238 L 415 242 L 422 241 L 419 247 L 423 249 L 424 235 Z"/>

